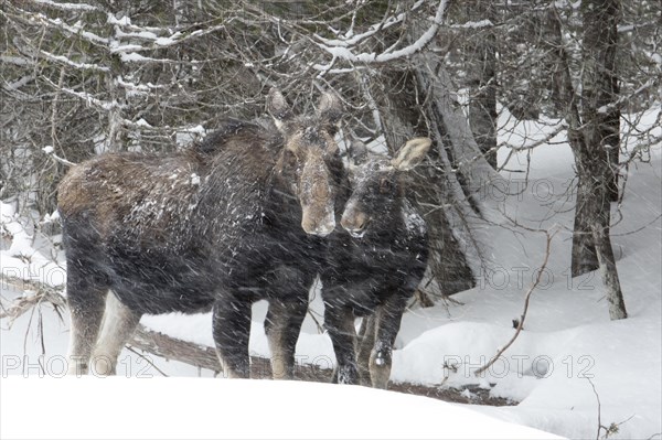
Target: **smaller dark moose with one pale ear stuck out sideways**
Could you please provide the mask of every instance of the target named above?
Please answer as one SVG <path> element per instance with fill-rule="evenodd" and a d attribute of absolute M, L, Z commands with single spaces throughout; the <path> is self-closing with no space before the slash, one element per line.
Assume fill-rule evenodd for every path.
<path fill-rule="evenodd" d="M 357 384 L 364 376 L 354 328 L 354 319 L 364 316 L 374 322 L 365 341 L 370 380 L 377 388 L 387 386 L 393 344 L 428 256 L 426 225 L 405 197 L 402 173 L 424 159 L 430 143 L 427 138 L 412 139 L 395 159 L 352 143 L 352 193 L 341 219 L 352 237 L 332 238 L 329 264 L 320 275 L 324 325 L 338 363 L 334 382 Z"/>

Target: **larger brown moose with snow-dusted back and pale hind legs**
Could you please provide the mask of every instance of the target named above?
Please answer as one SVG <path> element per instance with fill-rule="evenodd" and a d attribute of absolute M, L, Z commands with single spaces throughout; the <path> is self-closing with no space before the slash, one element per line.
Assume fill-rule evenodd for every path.
<path fill-rule="evenodd" d="M 224 374 L 249 377 L 250 305 L 266 299 L 274 376 L 292 376 L 345 179 L 334 141 L 342 109 L 324 94 L 314 115 L 296 117 L 271 90 L 267 110 L 274 124 L 227 119 L 199 146 L 108 153 L 64 178 L 70 374 L 115 374 L 145 313 L 212 310 Z M 108 291 L 116 301 L 105 310 Z"/>

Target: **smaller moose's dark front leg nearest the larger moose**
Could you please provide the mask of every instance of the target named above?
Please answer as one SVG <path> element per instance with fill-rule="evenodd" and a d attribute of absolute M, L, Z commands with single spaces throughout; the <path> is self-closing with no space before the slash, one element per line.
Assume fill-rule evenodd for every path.
<path fill-rule="evenodd" d="M 333 383 L 359 384 L 354 313 L 351 309 L 341 309 L 329 304 L 324 304 L 324 325 L 329 336 L 331 336 L 331 343 L 335 352 L 337 365 Z"/>

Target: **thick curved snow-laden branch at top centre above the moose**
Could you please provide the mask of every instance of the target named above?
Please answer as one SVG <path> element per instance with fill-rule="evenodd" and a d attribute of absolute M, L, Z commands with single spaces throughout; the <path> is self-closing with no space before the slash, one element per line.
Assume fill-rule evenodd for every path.
<path fill-rule="evenodd" d="M 331 54 L 333 60 L 330 64 L 334 63 L 335 60 L 343 60 L 351 63 L 385 63 L 393 60 L 410 56 L 417 52 L 419 52 L 423 47 L 425 47 L 433 37 L 437 34 L 439 26 L 441 25 L 441 20 L 444 18 L 444 11 L 446 10 L 447 0 L 439 1 L 439 6 L 437 7 L 437 12 L 433 19 L 433 24 L 428 28 L 426 32 L 423 33 L 414 43 L 406 47 L 398 49 L 393 52 L 384 52 L 381 54 L 376 53 L 361 53 L 354 54 L 349 45 L 339 44 L 338 40 L 332 41 L 334 45 L 330 46 L 328 44 L 318 43 L 318 46 L 323 51 Z M 370 31 L 369 31 L 370 32 Z M 313 68 L 318 71 L 327 71 L 329 69 L 329 65 L 319 65 L 316 64 Z"/>

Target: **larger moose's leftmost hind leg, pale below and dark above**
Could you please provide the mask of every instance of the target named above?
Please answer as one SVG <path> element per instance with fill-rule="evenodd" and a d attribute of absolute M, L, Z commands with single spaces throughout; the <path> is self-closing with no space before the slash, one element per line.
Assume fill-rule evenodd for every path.
<path fill-rule="evenodd" d="M 67 305 L 72 316 L 68 345 L 70 375 L 87 374 L 89 357 L 98 337 L 104 309 L 106 308 L 107 286 L 94 275 L 82 273 L 81 262 L 68 259 L 66 280 Z"/>

